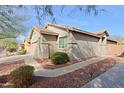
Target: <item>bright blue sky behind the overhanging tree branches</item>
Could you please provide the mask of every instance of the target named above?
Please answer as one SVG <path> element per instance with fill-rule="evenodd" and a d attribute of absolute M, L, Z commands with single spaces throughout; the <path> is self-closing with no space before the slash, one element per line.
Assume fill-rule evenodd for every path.
<path fill-rule="evenodd" d="M 39 26 L 36 19 L 36 13 L 31 8 L 32 6 L 26 6 L 28 9 L 21 10 L 20 14 L 27 17 L 25 26 L 27 26 L 27 33 L 25 36 L 20 36 L 18 39 L 23 41 L 25 37 L 29 36 L 33 26 Z M 124 6 L 97 6 L 98 9 L 104 9 L 105 12 L 99 13 L 97 16 L 85 15 L 83 12 L 73 10 L 74 6 L 67 6 L 63 13 L 60 12 L 60 6 L 54 6 L 53 12 L 56 18 L 57 24 L 68 25 L 86 30 L 89 32 L 95 32 L 101 29 L 108 30 L 110 36 L 124 36 Z M 42 22 L 45 24 L 51 22 L 50 19 L 44 19 Z"/>

